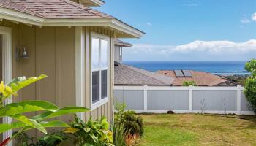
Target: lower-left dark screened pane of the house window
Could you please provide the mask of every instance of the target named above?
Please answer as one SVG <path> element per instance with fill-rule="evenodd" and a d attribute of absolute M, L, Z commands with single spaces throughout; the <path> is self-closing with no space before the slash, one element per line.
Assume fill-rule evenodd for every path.
<path fill-rule="evenodd" d="M 92 102 L 99 101 L 99 71 L 92 72 Z"/>

